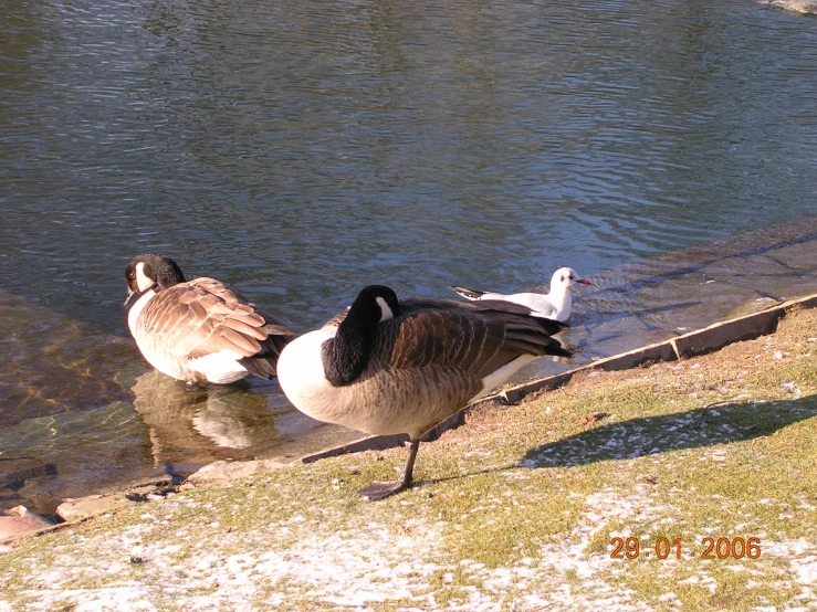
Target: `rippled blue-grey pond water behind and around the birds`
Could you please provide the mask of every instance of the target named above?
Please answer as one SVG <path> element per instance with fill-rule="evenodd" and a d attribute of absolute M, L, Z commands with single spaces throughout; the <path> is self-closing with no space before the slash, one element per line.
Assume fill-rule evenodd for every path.
<path fill-rule="evenodd" d="M 572 265 L 597 283 L 572 331 L 589 356 L 748 296 L 679 307 L 723 295 L 700 299 L 700 267 L 673 272 L 698 261 L 683 250 L 739 261 L 740 244 L 714 241 L 771 244 L 763 231 L 795 220 L 783 241 L 808 244 L 817 215 L 815 21 L 747 0 L 0 9 L 0 460 L 51 430 L 76 456 L 91 444 L 65 432 L 81 414 L 95 445 L 122 434 L 119 449 L 143 449 L 145 473 L 224 455 L 216 441 L 243 444 L 247 423 L 269 435 L 227 454 L 317 435 L 274 386 L 252 387 L 213 410 L 182 394 L 196 440 L 151 449 L 133 390 L 147 369 L 121 308 L 136 253 L 219 277 L 297 329 L 371 282 L 520 291 Z M 740 277 L 726 268 L 721 288 Z M 667 278 L 696 297 L 656 288 Z M 109 447 L 76 468 L 96 482 L 72 482 L 143 473 Z M 42 467 L 14 449 L 0 472 Z M 41 472 L 25 481 L 39 490 L 54 482 Z"/>

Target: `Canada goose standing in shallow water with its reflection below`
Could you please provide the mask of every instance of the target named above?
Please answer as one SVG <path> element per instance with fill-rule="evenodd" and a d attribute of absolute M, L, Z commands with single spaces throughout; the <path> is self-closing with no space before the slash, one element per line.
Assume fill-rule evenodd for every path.
<path fill-rule="evenodd" d="M 133 303 L 127 324 L 136 346 L 154 368 L 186 382 L 272 378 L 281 349 L 295 337 L 220 281 L 185 282 L 169 257 L 135 256 L 125 282 L 125 307 Z"/>

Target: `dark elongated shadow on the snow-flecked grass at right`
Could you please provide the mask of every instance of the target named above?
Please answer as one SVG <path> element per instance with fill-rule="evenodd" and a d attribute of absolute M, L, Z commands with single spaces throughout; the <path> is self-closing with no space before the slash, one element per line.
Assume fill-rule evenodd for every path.
<path fill-rule="evenodd" d="M 748 402 L 614 422 L 530 450 L 523 467 L 574 467 L 771 435 L 817 416 L 817 398 Z"/>

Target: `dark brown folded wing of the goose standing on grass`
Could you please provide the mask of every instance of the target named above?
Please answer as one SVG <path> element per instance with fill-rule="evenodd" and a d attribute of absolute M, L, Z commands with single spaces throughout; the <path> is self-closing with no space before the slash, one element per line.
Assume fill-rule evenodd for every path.
<path fill-rule="evenodd" d="M 483 378 L 522 355 L 569 355 L 530 308 L 505 302 L 400 300 L 378 327 L 373 358 L 396 369 L 450 366 Z"/>

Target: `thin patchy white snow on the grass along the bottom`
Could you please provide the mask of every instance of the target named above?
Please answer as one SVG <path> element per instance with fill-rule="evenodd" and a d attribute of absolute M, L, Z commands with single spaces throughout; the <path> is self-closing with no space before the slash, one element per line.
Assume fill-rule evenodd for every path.
<path fill-rule="evenodd" d="M 187 506 L 187 503 L 184 505 Z M 179 505 L 179 509 L 182 505 Z M 157 513 L 158 514 L 158 513 Z M 650 488 L 638 485 L 622 495 L 608 487 L 589 495 L 576 527 L 562 540 L 541 547 L 536 558 L 510 567 L 486 568 L 443 550 L 443 523 L 408 519 L 399 525 L 362 523 L 338 530 L 324 520 L 293 516 L 249 534 L 219 531 L 217 523 L 175 528 L 166 515 L 114 535 L 66 535 L 48 566 L 31 562 L 27 612 L 63 606 L 75 612 L 164 610 L 310 609 L 317 603 L 339 610 L 373 610 L 391 604 L 400 610 L 440 609 L 494 612 L 514 610 L 650 610 L 620 580 L 633 561 L 610 559 L 593 550 L 594 538 L 611 521 L 650 525 L 651 532 L 627 529 L 612 536 L 653 540 L 673 508 L 654 504 Z M 195 532 L 192 532 L 195 530 Z M 764 538 L 763 560 L 787 568 L 781 583 L 799 585 L 790 602 L 814 606 L 817 595 L 817 545 Z M 662 561 L 667 571 L 684 559 Z M 760 574 L 760 567 L 732 563 L 734 571 Z M 439 600 L 441 588 L 455 592 Z M 706 569 L 678 582 L 715 591 Z M 662 602 L 678 604 L 672 592 Z M 14 610 L 0 599 L 0 612 Z"/>

